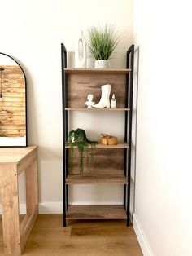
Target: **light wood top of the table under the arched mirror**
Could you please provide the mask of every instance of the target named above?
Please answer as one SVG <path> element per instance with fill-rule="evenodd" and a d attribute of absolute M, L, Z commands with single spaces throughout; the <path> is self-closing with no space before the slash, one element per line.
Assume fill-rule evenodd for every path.
<path fill-rule="evenodd" d="M 0 148 L 0 164 L 16 164 L 33 152 L 37 146 L 26 148 Z"/>

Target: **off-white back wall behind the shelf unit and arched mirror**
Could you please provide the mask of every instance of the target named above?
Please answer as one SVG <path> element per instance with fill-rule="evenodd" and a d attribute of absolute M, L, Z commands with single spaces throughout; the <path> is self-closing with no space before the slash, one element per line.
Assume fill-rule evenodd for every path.
<path fill-rule="evenodd" d="M 60 43 L 64 42 L 68 51 L 74 51 L 76 34 L 81 29 L 85 30 L 92 24 L 106 22 L 116 24 L 120 32 L 124 33 L 116 50 L 118 55 L 111 60 L 111 67 L 123 68 L 124 53 L 133 39 L 132 0 L 119 0 L 118 4 L 111 0 L 7 0 L 1 2 L 0 51 L 15 57 L 27 76 L 28 142 L 39 146 L 40 202 L 44 206 L 45 203 L 50 203 L 52 210 L 58 205 L 59 208 L 56 211 L 62 210 L 61 202 L 63 201 Z M 118 118 L 122 124 L 123 117 Z M 80 121 L 81 117 L 78 119 Z M 120 135 L 122 127 L 123 125 L 115 125 L 113 130 Z M 84 128 L 86 128 L 85 124 Z M 103 125 L 103 129 L 108 131 L 107 126 L 105 128 Z M 99 127 L 97 131 L 100 133 Z M 21 188 L 24 188 L 23 178 L 20 179 L 20 183 Z M 122 201 L 120 186 L 111 186 L 109 190 L 105 187 L 93 188 L 89 190 L 90 194 L 93 192 L 93 197 L 84 197 L 88 194 L 87 189 L 83 187 L 74 189 L 72 202 L 98 203 L 103 194 L 105 195 L 103 202 L 120 203 Z M 111 196 L 111 191 L 116 196 Z M 94 196 L 96 194 L 98 196 Z M 20 199 L 24 202 L 22 189 Z"/>

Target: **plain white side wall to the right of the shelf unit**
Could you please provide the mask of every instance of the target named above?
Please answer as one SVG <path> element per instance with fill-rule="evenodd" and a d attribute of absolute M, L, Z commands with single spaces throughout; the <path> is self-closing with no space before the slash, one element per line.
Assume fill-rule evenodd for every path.
<path fill-rule="evenodd" d="M 135 0 L 134 227 L 145 255 L 192 255 L 190 10 L 190 1 Z"/>

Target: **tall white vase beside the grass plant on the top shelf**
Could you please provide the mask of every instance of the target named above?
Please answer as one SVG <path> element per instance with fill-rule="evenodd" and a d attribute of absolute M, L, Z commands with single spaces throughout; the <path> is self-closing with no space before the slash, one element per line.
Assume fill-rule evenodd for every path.
<path fill-rule="evenodd" d="M 86 68 L 86 43 L 83 31 L 81 31 L 81 35 L 76 43 L 75 63 L 76 68 Z"/>

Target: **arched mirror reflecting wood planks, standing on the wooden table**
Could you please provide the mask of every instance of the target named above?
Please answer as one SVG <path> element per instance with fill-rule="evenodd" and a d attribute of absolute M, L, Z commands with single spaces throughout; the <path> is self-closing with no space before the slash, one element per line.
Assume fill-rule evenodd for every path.
<path fill-rule="evenodd" d="M 26 78 L 20 64 L 0 52 L 0 147 L 27 146 Z"/>

